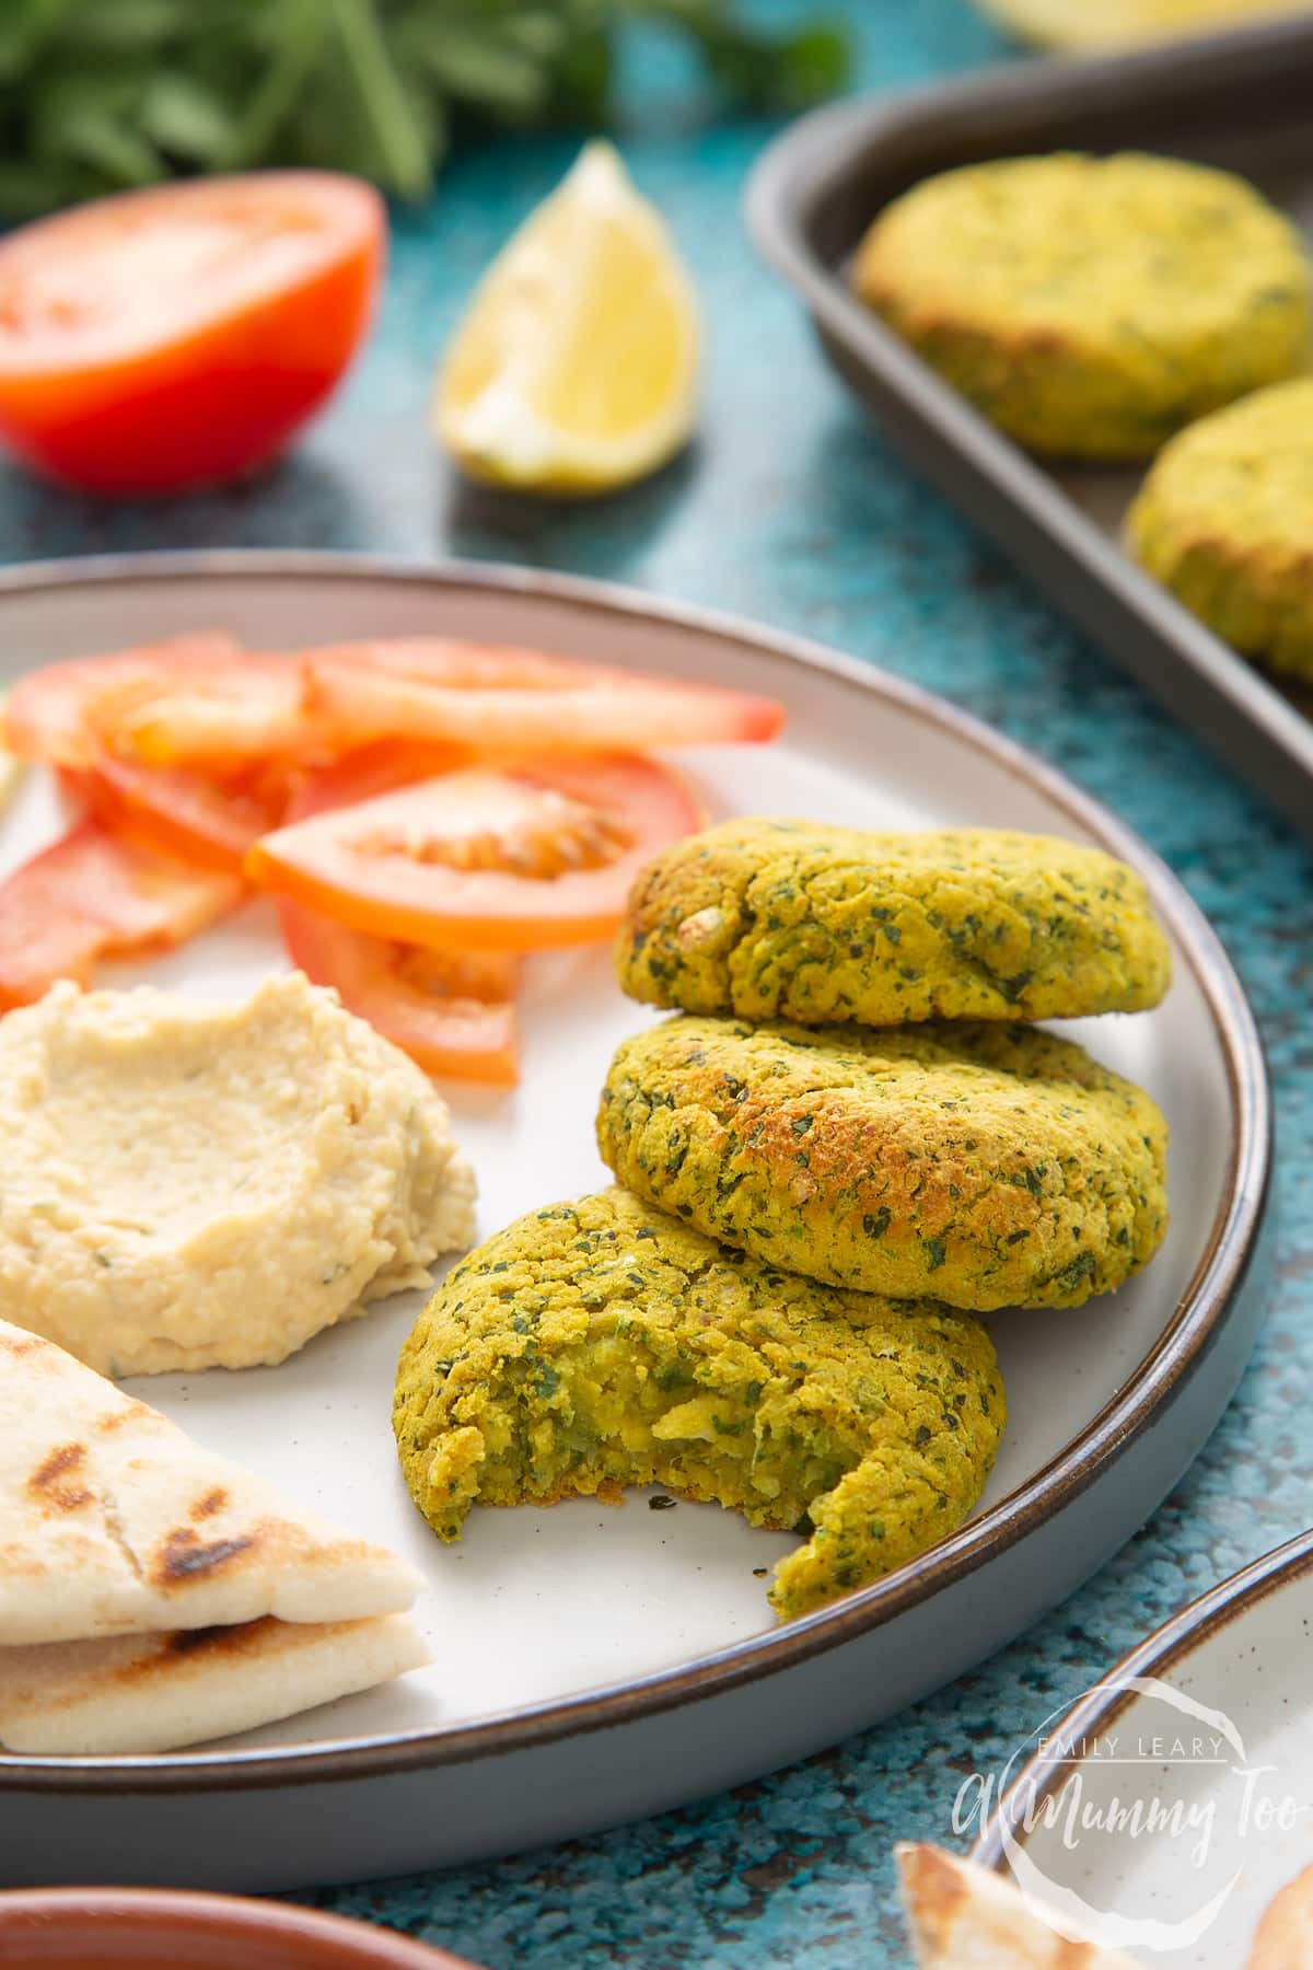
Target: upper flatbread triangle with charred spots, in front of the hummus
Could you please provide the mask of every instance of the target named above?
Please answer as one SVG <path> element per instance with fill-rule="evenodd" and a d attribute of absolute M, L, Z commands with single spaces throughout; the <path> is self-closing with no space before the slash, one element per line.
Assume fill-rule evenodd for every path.
<path fill-rule="evenodd" d="M 421 1588 L 406 1560 L 0 1322 L 0 1645 L 360 1621 Z"/>

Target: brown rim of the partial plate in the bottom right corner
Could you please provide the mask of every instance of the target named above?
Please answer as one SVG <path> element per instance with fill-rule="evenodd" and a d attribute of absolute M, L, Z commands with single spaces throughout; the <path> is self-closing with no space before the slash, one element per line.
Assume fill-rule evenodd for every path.
<path fill-rule="evenodd" d="M 1291 1582 L 1303 1578 L 1311 1566 L 1313 1531 L 1297 1533 L 1283 1546 L 1276 1546 L 1262 1560 L 1254 1560 L 1238 1574 L 1232 1574 L 1230 1580 L 1209 1588 L 1189 1608 L 1181 1608 L 1161 1627 L 1156 1627 L 1152 1635 L 1136 1643 L 1065 1716 L 1045 1726 L 1049 1738 L 1055 1743 L 1096 1741 L 1102 1732 L 1110 1730 L 1140 1700 L 1136 1690 L 1122 1686 L 1128 1676 L 1163 1676 L 1165 1671 L 1187 1661 L 1213 1635 L 1230 1627 L 1232 1621 L 1240 1621 L 1258 1602 L 1268 1600 L 1270 1594 L 1280 1594 Z M 1037 1751 L 1030 1757 L 990 1814 L 984 1832 L 970 1850 L 970 1860 L 978 1862 L 980 1868 L 992 1868 L 994 1873 L 1006 1873 L 1004 1830 L 1018 1846 L 1026 1846 L 1030 1840 L 1026 1830 L 1028 1805 L 1041 1806 L 1069 1775 L 1071 1759 L 1063 1759 L 1055 1751 Z"/>

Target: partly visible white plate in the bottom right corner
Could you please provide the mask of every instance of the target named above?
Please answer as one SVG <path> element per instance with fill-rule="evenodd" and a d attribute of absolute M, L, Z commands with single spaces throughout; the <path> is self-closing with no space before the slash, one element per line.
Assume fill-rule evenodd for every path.
<path fill-rule="evenodd" d="M 1301 1533 L 1045 1720 L 972 1860 L 1144 1962 L 1238 1970 L 1313 1868 L 1311 1637 Z"/>

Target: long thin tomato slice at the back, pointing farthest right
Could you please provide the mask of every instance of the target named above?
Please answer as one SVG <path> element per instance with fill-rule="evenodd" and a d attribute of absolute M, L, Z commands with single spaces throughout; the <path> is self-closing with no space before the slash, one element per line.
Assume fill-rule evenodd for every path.
<path fill-rule="evenodd" d="M 774 739 L 783 705 L 541 650 L 413 638 L 305 652 L 309 701 L 358 741 L 541 756 Z"/>

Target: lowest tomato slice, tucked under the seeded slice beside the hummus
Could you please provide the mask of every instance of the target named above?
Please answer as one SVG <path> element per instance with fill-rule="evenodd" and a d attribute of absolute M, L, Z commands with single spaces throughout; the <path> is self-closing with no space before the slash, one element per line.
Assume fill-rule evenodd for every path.
<path fill-rule="evenodd" d="M 518 959 L 506 952 L 425 952 L 344 930 L 295 902 L 280 906 L 283 944 L 313 985 L 333 985 L 348 1013 L 427 1074 L 514 1087 Z"/>

